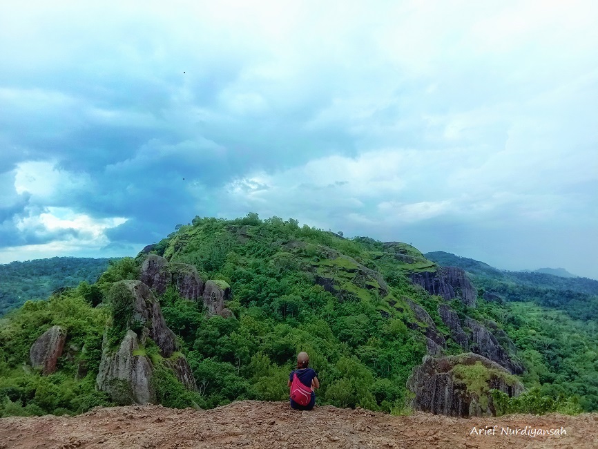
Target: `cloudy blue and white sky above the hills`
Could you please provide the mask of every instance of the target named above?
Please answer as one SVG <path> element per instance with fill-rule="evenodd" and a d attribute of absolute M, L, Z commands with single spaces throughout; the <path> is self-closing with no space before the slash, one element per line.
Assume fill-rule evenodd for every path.
<path fill-rule="evenodd" d="M 598 279 L 598 2 L 0 5 L 0 263 L 295 218 Z"/>

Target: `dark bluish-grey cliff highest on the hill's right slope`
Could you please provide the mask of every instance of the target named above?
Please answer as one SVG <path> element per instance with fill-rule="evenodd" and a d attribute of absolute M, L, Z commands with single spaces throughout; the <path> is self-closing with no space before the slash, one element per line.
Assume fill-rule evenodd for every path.
<path fill-rule="evenodd" d="M 465 305 L 476 307 L 476 290 L 465 271 L 458 267 L 443 267 L 436 271 L 409 274 L 412 283 L 421 285 L 426 292 L 445 300 L 461 298 Z"/>

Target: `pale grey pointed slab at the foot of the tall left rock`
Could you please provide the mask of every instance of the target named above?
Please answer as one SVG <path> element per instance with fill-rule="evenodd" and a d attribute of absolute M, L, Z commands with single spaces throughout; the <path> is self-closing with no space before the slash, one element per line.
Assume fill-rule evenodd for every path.
<path fill-rule="evenodd" d="M 139 350 L 137 334 L 129 330 L 116 352 L 104 350 L 96 378 L 97 389 L 122 405 L 156 403 L 152 373 L 150 358 Z"/>

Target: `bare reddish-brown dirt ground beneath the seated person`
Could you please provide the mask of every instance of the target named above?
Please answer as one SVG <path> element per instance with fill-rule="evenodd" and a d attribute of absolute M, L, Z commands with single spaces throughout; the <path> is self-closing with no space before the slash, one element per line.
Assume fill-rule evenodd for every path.
<path fill-rule="evenodd" d="M 560 436 L 537 432 L 561 428 Z M 147 405 L 96 408 L 77 417 L 3 418 L 0 449 L 8 448 L 596 449 L 598 414 L 461 419 L 392 417 L 329 405 L 299 412 L 287 403 L 258 401 L 200 411 Z"/>

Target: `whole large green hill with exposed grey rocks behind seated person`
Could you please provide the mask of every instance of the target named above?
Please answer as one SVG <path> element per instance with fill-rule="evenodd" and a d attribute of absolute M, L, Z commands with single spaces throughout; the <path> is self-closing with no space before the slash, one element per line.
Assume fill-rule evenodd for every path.
<path fill-rule="evenodd" d="M 1 319 L 0 413 L 288 401 L 299 351 L 318 373 L 318 405 L 598 410 L 595 321 L 534 296 L 545 287 L 528 284 L 550 275 L 477 269 L 293 219 L 195 217 L 97 282 Z M 565 298 L 581 314 L 575 295 L 589 295 Z"/>

